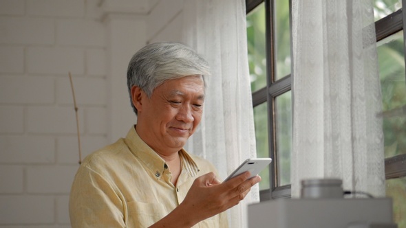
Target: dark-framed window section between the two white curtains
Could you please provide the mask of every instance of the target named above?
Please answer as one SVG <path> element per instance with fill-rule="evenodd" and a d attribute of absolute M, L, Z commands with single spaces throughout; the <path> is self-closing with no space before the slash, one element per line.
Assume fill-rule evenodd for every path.
<path fill-rule="evenodd" d="M 273 159 L 269 169 L 260 174 L 263 179 L 259 185 L 261 200 L 289 197 L 292 149 L 290 2 L 246 3 L 257 156 Z"/>

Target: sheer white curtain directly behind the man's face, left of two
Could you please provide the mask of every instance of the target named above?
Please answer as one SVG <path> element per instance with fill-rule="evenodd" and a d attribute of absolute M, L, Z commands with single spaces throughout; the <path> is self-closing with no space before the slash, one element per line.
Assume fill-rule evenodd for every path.
<path fill-rule="evenodd" d="M 248 73 L 244 0 L 186 0 L 184 43 L 211 65 L 200 128 L 186 146 L 211 161 L 225 179 L 239 163 L 256 156 Z M 258 187 L 229 214 L 230 227 L 246 227 L 246 205 L 259 201 Z"/>

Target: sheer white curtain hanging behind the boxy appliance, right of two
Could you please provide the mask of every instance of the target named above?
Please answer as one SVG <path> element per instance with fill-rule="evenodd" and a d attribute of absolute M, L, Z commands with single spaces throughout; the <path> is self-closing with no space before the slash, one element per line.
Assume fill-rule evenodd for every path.
<path fill-rule="evenodd" d="M 292 0 L 292 196 L 308 178 L 385 194 L 371 0 Z"/>

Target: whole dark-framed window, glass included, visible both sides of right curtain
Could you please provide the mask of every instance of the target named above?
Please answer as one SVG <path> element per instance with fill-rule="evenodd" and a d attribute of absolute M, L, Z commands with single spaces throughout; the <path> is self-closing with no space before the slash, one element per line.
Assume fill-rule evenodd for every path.
<path fill-rule="evenodd" d="M 374 0 L 383 104 L 386 193 L 394 220 L 406 227 L 406 73 L 403 24 L 405 0 Z M 292 98 L 290 0 L 246 0 L 248 61 L 257 156 L 271 157 L 261 172 L 261 201 L 290 197 Z"/>

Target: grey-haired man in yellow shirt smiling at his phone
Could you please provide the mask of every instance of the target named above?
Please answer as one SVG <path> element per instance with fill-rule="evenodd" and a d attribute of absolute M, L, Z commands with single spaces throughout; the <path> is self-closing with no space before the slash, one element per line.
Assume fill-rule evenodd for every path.
<path fill-rule="evenodd" d="M 81 163 L 72 227 L 228 227 L 226 209 L 261 179 L 246 172 L 220 183 L 209 161 L 183 149 L 202 118 L 209 74 L 206 60 L 180 43 L 153 43 L 131 58 L 127 87 L 137 122 Z"/>

